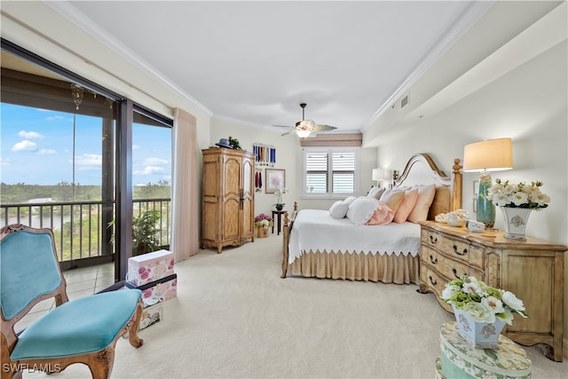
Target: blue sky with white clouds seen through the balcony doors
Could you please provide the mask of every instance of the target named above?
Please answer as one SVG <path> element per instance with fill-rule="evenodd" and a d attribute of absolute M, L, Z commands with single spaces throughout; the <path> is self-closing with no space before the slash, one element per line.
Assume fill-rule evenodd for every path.
<path fill-rule="evenodd" d="M 73 183 L 74 114 L 2 103 L 0 180 L 9 185 Z M 100 186 L 101 120 L 75 117 L 75 184 Z M 171 184 L 171 130 L 134 124 L 134 186 Z"/>

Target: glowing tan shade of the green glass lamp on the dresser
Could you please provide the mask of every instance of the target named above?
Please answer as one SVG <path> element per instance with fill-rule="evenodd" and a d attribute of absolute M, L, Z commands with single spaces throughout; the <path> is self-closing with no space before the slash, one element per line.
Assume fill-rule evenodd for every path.
<path fill-rule="evenodd" d="M 463 148 L 464 171 L 499 171 L 512 168 L 511 138 L 485 139 Z"/>

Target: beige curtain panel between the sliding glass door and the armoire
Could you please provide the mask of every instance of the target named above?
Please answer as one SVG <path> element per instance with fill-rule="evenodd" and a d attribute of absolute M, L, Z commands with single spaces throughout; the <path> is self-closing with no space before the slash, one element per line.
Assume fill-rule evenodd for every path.
<path fill-rule="evenodd" d="M 196 119 L 174 110 L 172 135 L 171 240 L 176 261 L 199 251 L 197 127 Z"/>

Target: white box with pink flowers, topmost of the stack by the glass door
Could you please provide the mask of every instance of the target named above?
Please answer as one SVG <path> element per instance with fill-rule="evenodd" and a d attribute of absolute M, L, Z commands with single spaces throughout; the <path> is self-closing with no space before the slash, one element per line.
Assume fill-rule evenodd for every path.
<path fill-rule="evenodd" d="M 141 286 L 174 273 L 174 253 L 158 250 L 137 257 L 128 258 L 126 280 Z"/>

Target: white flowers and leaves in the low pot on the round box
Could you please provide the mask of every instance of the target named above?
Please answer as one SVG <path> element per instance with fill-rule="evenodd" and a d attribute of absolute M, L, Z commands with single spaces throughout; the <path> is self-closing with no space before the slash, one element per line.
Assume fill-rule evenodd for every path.
<path fill-rule="evenodd" d="M 463 275 L 460 280 L 447 283 L 441 297 L 477 322 L 501 320 L 513 325 L 513 313 L 528 317 L 523 301 L 517 299 L 515 294 L 487 286 L 472 276 Z"/>

